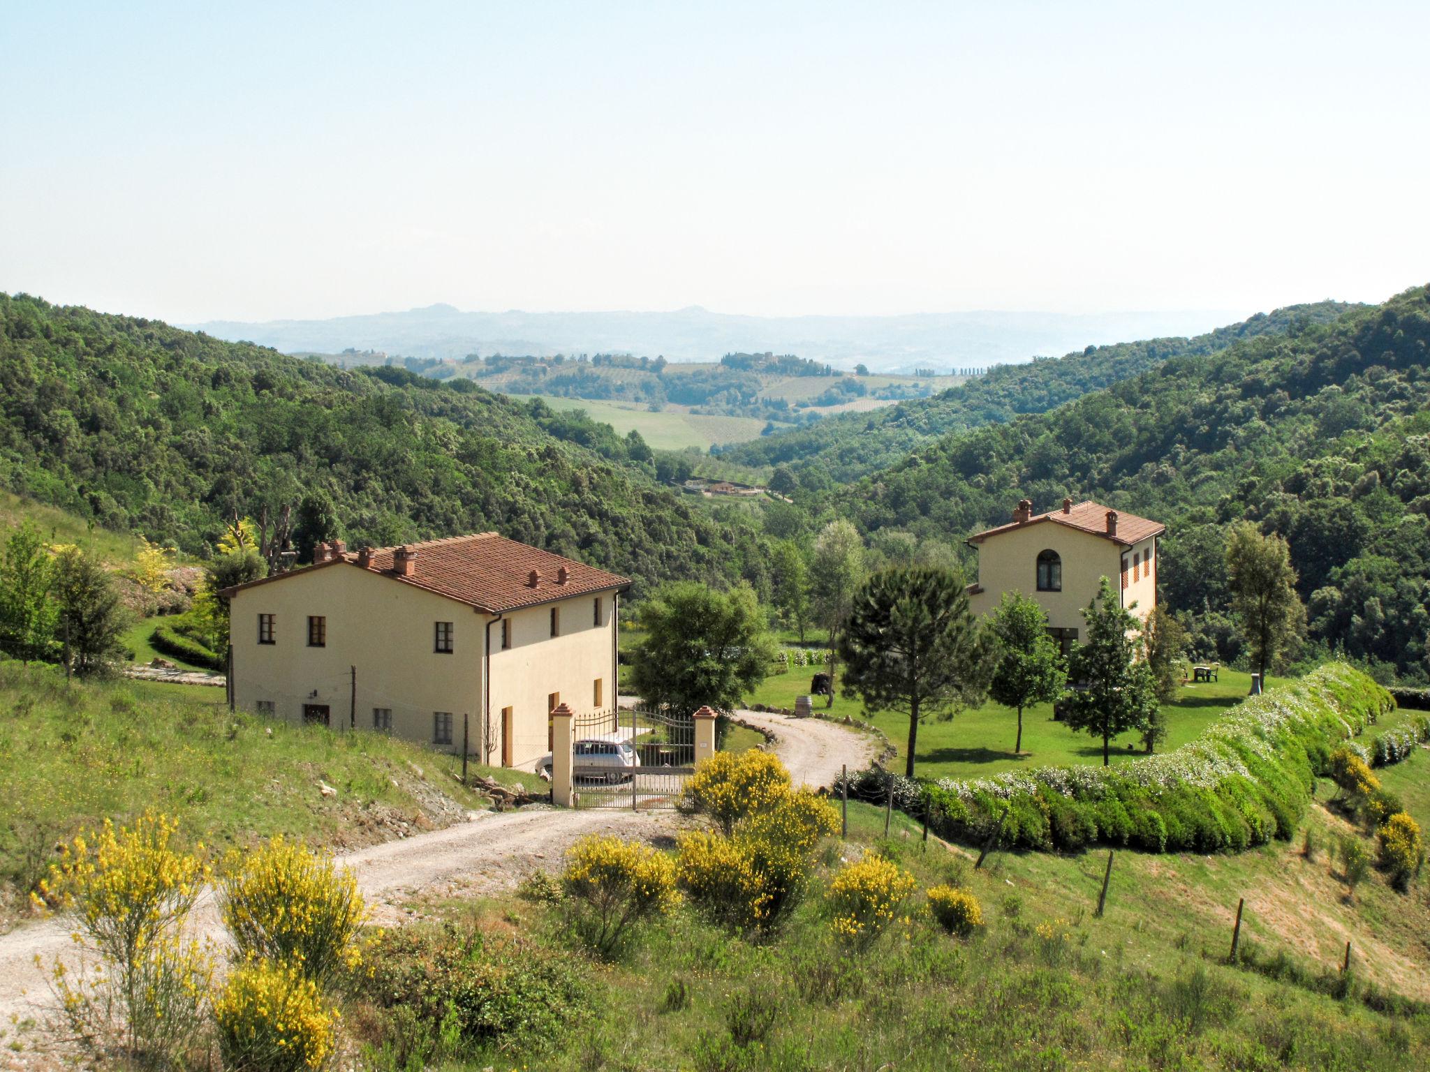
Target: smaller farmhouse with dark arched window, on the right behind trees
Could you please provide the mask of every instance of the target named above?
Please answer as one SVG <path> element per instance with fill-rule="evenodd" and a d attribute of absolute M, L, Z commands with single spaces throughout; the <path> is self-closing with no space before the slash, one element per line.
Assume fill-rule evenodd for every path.
<path fill-rule="evenodd" d="M 978 550 L 978 583 L 968 587 L 971 609 L 988 613 L 1004 592 L 1031 596 L 1065 652 L 1077 642 L 1083 609 L 1103 577 L 1117 587 L 1124 607 L 1141 619 L 1151 613 L 1157 606 L 1157 537 L 1165 532 L 1160 522 L 1094 502 L 1064 499 L 1057 510 L 1032 513 L 1032 502 L 1022 499 L 1011 525 L 968 537 Z"/>

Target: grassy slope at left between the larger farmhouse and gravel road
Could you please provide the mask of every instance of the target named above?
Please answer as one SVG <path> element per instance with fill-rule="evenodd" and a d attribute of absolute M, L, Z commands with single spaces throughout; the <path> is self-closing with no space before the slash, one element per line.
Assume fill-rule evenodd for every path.
<path fill-rule="evenodd" d="M 386 840 L 425 803 L 485 808 L 453 775 L 460 758 L 378 733 L 335 733 L 230 713 L 223 689 L 159 682 L 66 685 L 56 667 L 0 663 L 0 906 L 80 828 L 147 808 L 217 848 L 273 833 L 330 846 Z M 475 768 L 511 785 L 516 770 Z M 319 783 L 336 796 L 322 796 Z M 0 910 L 0 916 L 3 916 Z"/>

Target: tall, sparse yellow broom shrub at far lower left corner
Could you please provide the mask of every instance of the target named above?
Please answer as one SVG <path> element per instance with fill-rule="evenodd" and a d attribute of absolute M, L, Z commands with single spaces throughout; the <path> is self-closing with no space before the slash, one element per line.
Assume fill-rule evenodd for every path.
<path fill-rule="evenodd" d="M 172 840 L 177 823 L 146 812 L 132 828 L 74 838 L 40 883 L 37 900 L 74 920 L 76 945 L 97 963 L 56 962 L 53 986 L 74 1033 L 96 1048 L 164 1063 L 202 1035 L 213 958 L 182 938 L 209 876 L 199 855 Z"/>

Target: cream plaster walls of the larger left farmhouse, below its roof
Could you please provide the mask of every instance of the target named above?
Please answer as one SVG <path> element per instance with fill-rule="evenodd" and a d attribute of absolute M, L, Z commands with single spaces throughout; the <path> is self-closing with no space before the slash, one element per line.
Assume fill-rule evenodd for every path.
<path fill-rule="evenodd" d="M 578 716 L 615 705 L 615 595 L 603 592 L 599 599 L 599 625 L 593 595 L 508 615 L 512 646 L 505 650 L 500 623 L 492 626 L 493 763 L 505 756 L 512 766 L 531 768 L 546 753 L 552 693 Z M 559 615 L 556 636 L 551 635 L 552 607 Z M 273 615 L 273 643 L 259 642 L 260 615 Z M 309 617 L 325 619 L 322 647 L 307 643 Z M 355 565 L 299 570 L 233 595 L 235 705 L 243 710 L 272 705 L 273 718 L 292 723 L 303 720 L 305 706 L 322 705 L 337 732 L 349 729 L 355 706 L 359 730 L 378 729 L 383 718 L 396 736 L 456 752 L 465 715 L 468 750 L 485 760 L 482 672 L 486 623 L 493 620 L 465 603 Z M 438 622 L 452 623 L 450 653 L 436 650 Z M 356 667 L 356 705 L 350 667 Z M 502 719 L 505 708 L 512 709 L 509 720 Z M 436 739 L 439 712 L 452 716 L 449 742 Z"/>

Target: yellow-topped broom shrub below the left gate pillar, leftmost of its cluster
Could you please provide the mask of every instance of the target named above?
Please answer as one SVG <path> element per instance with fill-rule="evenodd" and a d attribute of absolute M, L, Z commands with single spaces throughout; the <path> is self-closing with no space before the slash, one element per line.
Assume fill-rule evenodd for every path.
<path fill-rule="evenodd" d="M 578 903 L 581 936 L 609 956 L 628 929 L 675 906 L 675 868 L 648 845 L 609 836 L 586 836 L 566 852 L 561 885 Z"/>

